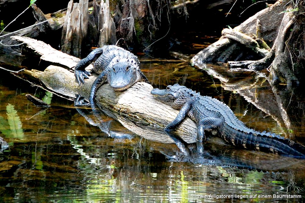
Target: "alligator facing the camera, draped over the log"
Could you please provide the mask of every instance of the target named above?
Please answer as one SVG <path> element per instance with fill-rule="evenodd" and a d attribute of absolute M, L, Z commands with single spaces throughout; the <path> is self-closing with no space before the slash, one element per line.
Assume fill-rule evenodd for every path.
<path fill-rule="evenodd" d="M 94 49 L 74 67 L 74 75 L 79 85 L 84 83 L 84 78 L 89 78 L 89 75 L 91 75 L 85 70 L 85 67 L 92 62 L 94 62 L 93 71 L 99 76 L 91 87 L 90 104 L 94 103 L 97 89 L 106 80 L 115 91 L 128 89 L 139 81 L 149 83 L 140 70 L 140 62 L 137 56 L 116 45 L 105 45 L 102 48 Z"/>

